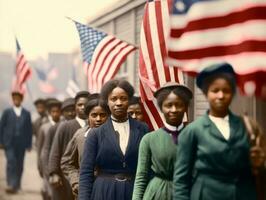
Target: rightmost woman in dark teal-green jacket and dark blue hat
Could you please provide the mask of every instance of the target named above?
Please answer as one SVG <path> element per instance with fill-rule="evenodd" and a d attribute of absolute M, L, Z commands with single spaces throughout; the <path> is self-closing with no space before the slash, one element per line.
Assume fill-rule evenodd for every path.
<path fill-rule="evenodd" d="M 174 199 L 257 199 L 248 134 L 242 119 L 229 109 L 236 91 L 232 66 L 207 67 L 196 83 L 209 102 L 209 110 L 178 138 Z"/>

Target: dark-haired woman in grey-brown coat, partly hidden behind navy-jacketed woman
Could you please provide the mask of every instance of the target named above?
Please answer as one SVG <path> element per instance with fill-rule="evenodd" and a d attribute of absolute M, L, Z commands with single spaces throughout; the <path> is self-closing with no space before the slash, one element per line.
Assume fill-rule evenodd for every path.
<path fill-rule="evenodd" d="M 108 106 L 103 100 L 99 99 L 98 93 L 89 96 L 89 101 L 85 105 L 85 114 L 88 116 L 88 126 L 77 130 L 61 159 L 62 171 L 67 177 L 76 198 L 78 196 L 79 169 L 85 139 L 92 128 L 101 126 L 109 116 Z"/>

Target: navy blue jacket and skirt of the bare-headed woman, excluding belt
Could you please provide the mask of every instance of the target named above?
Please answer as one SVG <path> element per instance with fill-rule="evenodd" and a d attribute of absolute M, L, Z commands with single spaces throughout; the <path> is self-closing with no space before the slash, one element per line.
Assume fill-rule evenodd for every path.
<path fill-rule="evenodd" d="M 114 199 L 113 197 L 116 196 L 116 199 L 119 199 L 118 195 L 124 197 L 132 195 L 133 181 L 128 184 L 99 178 L 101 180 L 98 182 L 97 177 L 94 182 L 95 168 L 99 170 L 99 173 L 135 175 L 139 143 L 149 130 L 146 124 L 132 118 L 129 118 L 129 127 L 130 136 L 125 155 L 120 149 L 110 118 L 100 127 L 91 129 L 84 144 L 79 179 L 79 199 L 102 199 L 103 196 L 109 196 L 109 199 Z M 105 188 L 105 190 L 100 188 Z M 92 192 L 92 190 L 96 192 Z M 91 197 L 92 193 L 93 197 Z"/>

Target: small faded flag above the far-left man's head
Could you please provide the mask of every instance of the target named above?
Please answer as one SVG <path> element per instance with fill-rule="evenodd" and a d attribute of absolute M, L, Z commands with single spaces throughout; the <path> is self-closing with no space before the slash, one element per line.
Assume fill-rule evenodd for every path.
<path fill-rule="evenodd" d="M 25 93 L 26 91 L 25 83 L 31 77 L 32 71 L 25 59 L 24 54 L 21 51 L 17 39 L 16 39 L 16 46 L 17 46 L 17 58 L 16 58 L 17 60 L 16 60 L 15 76 L 13 78 L 13 83 L 12 83 L 12 91 Z"/>

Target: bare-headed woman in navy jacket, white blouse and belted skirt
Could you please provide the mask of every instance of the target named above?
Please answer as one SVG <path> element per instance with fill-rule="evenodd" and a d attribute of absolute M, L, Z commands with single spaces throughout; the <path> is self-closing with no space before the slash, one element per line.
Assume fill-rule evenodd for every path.
<path fill-rule="evenodd" d="M 110 80 L 101 90 L 111 116 L 92 129 L 85 141 L 80 169 L 79 199 L 130 200 L 138 147 L 148 126 L 128 117 L 134 88 L 126 80 Z M 97 176 L 94 169 L 97 168 Z"/>

